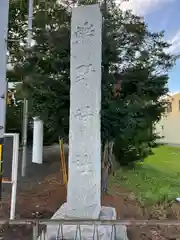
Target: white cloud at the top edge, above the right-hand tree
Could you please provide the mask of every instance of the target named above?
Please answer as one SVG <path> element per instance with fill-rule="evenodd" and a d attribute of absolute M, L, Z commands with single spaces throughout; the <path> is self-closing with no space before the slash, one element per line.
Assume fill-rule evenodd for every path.
<path fill-rule="evenodd" d="M 141 16 L 171 2 L 174 2 L 174 0 L 129 0 L 127 2 L 117 0 L 122 10 L 132 10 L 134 14 Z"/>

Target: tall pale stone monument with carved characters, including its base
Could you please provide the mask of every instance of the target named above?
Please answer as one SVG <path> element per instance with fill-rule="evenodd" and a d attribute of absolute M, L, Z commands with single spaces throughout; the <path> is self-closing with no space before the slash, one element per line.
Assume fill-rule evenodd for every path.
<path fill-rule="evenodd" d="M 53 219 L 116 219 L 114 208 L 101 207 L 101 36 L 99 6 L 74 8 L 67 202 Z M 75 238 L 77 226 L 63 225 L 58 239 L 114 239 L 111 226 L 98 226 L 98 236 L 93 236 L 94 226 L 80 228 L 81 236 Z M 48 226 L 47 239 L 56 239 L 58 232 L 58 226 Z"/>

